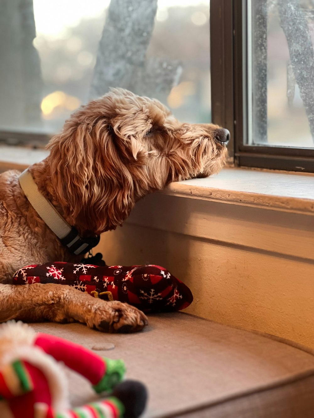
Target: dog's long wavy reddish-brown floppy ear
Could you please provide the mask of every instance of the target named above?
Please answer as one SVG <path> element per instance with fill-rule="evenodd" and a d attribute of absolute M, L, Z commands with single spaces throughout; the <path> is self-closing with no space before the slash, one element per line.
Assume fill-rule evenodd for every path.
<path fill-rule="evenodd" d="M 71 118 L 47 148 L 52 186 L 77 228 L 100 233 L 121 225 L 134 206 L 134 185 L 110 125 Z"/>

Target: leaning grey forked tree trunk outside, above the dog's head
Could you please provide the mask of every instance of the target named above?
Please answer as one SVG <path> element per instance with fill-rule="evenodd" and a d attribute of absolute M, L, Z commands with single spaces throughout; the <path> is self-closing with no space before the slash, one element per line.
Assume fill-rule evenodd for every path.
<path fill-rule="evenodd" d="M 90 97 L 123 87 L 139 95 L 169 94 L 178 83 L 178 61 L 146 60 L 152 38 L 157 0 L 111 0 L 97 61 Z"/>

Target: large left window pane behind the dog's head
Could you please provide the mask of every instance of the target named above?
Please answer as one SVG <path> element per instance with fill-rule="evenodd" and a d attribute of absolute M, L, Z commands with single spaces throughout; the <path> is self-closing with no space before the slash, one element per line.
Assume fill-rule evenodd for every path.
<path fill-rule="evenodd" d="M 44 145 L 109 87 L 210 122 L 209 0 L 156 3 L 1 2 L 0 139 Z"/>

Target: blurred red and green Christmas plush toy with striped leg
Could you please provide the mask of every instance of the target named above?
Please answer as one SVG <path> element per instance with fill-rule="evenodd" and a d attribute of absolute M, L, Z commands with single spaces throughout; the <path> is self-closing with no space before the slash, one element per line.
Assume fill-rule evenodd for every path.
<path fill-rule="evenodd" d="M 70 409 L 59 362 L 88 379 L 105 400 Z M 1 418 L 135 418 L 144 410 L 146 389 L 124 381 L 122 360 L 105 359 L 64 339 L 36 334 L 26 324 L 0 326 Z M 121 383 L 120 383 L 121 382 Z"/>

